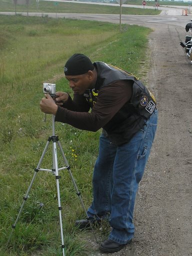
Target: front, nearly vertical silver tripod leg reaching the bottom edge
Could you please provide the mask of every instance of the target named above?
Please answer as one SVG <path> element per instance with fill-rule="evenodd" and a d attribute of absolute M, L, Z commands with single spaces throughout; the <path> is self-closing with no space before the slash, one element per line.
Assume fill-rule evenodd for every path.
<path fill-rule="evenodd" d="M 53 168 L 55 168 L 55 178 L 56 178 L 56 189 L 57 189 L 57 199 L 58 199 L 58 213 L 59 213 L 59 222 L 60 222 L 60 235 L 61 235 L 61 248 L 62 248 L 62 255 L 64 256 L 64 239 L 63 239 L 63 230 L 62 230 L 62 216 L 61 216 L 61 205 L 60 205 L 60 192 L 59 192 L 59 178 L 58 175 L 58 163 L 57 163 L 57 153 L 56 153 L 56 140 L 57 136 L 53 136 Z"/>

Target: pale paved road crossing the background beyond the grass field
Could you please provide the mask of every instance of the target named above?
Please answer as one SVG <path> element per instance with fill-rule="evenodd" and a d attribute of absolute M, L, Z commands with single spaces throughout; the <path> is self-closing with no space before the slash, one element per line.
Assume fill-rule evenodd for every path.
<path fill-rule="evenodd" d="M 56 1 L 62 1 L 62 0 L 56 0 Z M 67 1 L 69 2 L 69 1 Z M 72 1 L 74 2 L 74 1 Z M 84 2 L 80 2 L 84 3 Z M 86 2 L 87 3 L 87 2 Z M 106 3 L 92 3 L 91 4 L 106 4 Z M 119 4 L 112 4 L 112 5 L 119 5 Z M 134 6 L 134 7 L 140 7 L 140 5 L 128 5 L 123 4 L 123 6 Z M 145 6 L 153 8 L 152 6 Z M 161 13 L 159 15 L 121 15 L 121 23 L 127 23 L 127 24 L 137 24 L 137 25 L 143 25 L 143 26 L 149 26 L 149 27 L 155 27 L 158 23 L 163 24 L 171 24 L 176 26 L 182 26 L 185 27 L 185 24 L 190 21 L 190 18 L 192 18 L 191 14 L 188 14 L 187 16 L 182 15 L 182 10 L 186 6 L 160 6 L 159 9 L 161 9 Z M 26 15 L 26 12 L 17 12 L 22 15 Z M 14 12 L 0 12 L 0 14 L 8 14 L 8 15 L 14 15 Z M 53 18 L 73 18 L 73 19 L 86 19 L 86 20 L 98 20 L 98 21 L 108 21 L 112 23 L 119 23 L 119 14 L 88 14 L 88 13 L 46 13 L 46 12 L 29 12 L 28 15 L 30 16 L 42 16 L 47 15 L 49 17 Z"/>

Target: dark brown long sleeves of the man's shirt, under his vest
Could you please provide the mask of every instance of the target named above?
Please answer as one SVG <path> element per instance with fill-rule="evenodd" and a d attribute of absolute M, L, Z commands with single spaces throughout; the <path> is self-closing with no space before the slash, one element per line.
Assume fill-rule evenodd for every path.
<path fill-rule="evenodd" d="M 116 112 L 130 100 L 132 81 L 114 81 L 98 91 L 97 101 L 89 111 L 90 106 L 83 95 L 74 94 L 58 106 L 55 121 L 68 123 L 78 129 L 97 131 L 103 127 Z"/>

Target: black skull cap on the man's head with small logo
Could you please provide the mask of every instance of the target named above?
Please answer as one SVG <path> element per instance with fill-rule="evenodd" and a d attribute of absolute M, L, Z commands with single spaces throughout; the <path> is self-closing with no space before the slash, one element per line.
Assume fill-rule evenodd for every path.
<path fill-rule="evenodd" d="M 87 56 L 81 53 L 75 53 L 66 61 L 64 65 L 64 74 L 79 75 L 93 69 L 94 66 Z"/>

